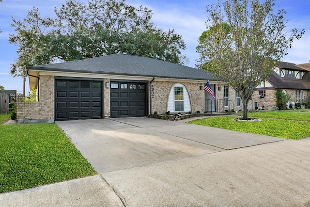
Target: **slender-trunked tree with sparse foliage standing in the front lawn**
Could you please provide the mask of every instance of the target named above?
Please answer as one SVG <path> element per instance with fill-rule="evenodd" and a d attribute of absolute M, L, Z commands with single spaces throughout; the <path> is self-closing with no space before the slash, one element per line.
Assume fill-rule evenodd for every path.
<path fill-rule="evenodd" d="M 285 11 L 275 12 L 274 7 L 274 0 L 225 0 L 223 5 L 218 0 L 206 9 L 210 16 L 199 38 L 197 66 L 214 72 L 239 93 L 244 119 L 255 87 L 270 77 L 293 40 L 304 33 L 293 29 L 287 37 Z"/>

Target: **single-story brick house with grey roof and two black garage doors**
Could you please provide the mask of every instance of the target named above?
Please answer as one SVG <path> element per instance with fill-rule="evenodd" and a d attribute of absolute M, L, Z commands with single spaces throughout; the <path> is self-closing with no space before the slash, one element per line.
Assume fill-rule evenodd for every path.
<path fill-rule="evenodd" d="M 17 99 L 19 123 L 242 109 L 236 92 L 212 73 L 148 57 L 113 54 L 27 73 L 38 97 Z M 202 90 L 207 81 L 216 100 Z"/>

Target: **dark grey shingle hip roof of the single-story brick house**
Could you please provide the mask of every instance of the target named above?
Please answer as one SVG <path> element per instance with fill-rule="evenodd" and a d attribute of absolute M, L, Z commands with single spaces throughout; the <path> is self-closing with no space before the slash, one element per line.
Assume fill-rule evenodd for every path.
<path fill-rule="evenodd" d="M 49 70 L 110 75 L 129 75 L 189 80 L 217 80 L 213 73 L 148 57 L 113 54 L 85 60 L 27 67 L 27 70 Z"/>

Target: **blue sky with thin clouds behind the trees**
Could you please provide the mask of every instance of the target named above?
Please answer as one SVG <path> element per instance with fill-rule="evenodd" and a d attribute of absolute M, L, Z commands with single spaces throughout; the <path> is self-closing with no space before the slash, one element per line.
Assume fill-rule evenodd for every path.
<path fill-rule="evenodd" d="M 80 0 L 86 2 L 86 0 Z M 186 43 L 183 51 L 190 62 L 188 66 L 195 67 L 197 59 L 197 39 L 206 29 L 205 21 L 207 13 L 206 5 L 215 0 L 126 0 L 133 6 L 143 5 L 153 10 L 152 22 L 165 31 L 175 29 L 182 35 Z M 0 85 L 7 90 L 23 91 L 21 77 L 13 77 L 9 74 L 10 64 L 17 58 L 16 46 L 8 43 L 9 33 L 14 33 L 11 27 L 14 16 L 16 20 L 24 18 L 33 6 L 39 8 L 42 16 L 53 16 L 54 7 L 60 8 L 65 0 L 3 0 L 0 3 Z M 294 41 L 293 48 L 288 50 L 289 55 L 282 61 L 294 64 L 304 64 L 310 61 L 310 0 L 276 0 L 276 6 L 284 9 L 287 14 L 287 32 L 293 28 L 305 29 L 302 39 Z M 26 91 L 29 91 L 26 83 Z"/>

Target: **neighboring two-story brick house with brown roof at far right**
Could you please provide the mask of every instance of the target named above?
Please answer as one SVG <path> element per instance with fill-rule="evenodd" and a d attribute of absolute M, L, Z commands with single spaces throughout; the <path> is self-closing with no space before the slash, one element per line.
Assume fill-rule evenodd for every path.
<path fill-rule="evenodd" d="M 270 78 L 255 89 L 252 96 L 255 109 L 275 109 L 277 88 L 291 96 L 290 102 L 305 103 L 310 96 L 310 73 L 302 66 L 278 62 Z"/>

